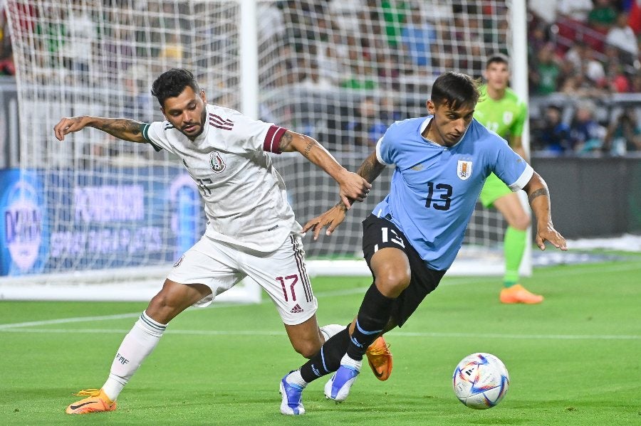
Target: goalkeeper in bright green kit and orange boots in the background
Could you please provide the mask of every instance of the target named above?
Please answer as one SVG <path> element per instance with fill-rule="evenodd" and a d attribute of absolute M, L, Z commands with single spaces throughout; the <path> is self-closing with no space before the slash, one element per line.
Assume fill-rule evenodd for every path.
<path fill-rule="evenodd" d="M 509 59 L 505 55 L 493 55 L 486 61 L 486 84 L 479 90 L 481 102 L 476 104 L 474 118 L 506 139 L 510 147 L 527 160 L 521 142 L 528 114 L 527 106 L 514 90 L 508 87 L 509 78 Z M 501 289 L 499 299 L 503 303 L 543 302 L 543 296 L 528 292 L 518 283 L 518 268 L 526 249 L 530 216 L 523 209 L 517 193 L 512 192 L 496 175 L 491 174 L 479 199 L 486 208 L 494 207 L 500 211 L 508 223 L 504 240 L 504 288 Z"/>

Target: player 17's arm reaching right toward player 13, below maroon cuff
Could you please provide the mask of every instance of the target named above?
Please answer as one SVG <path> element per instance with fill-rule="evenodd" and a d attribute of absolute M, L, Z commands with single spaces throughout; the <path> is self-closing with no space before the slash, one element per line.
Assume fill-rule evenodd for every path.
<path fill-rule="evenodd" d="M 363 201 L 372 187 L 358 174 L 352 173 L 338 164 L 338 161 L 321 144 L 305 134 L 287 131 L 281 137 L 282 152 L 298 151 L 309 161 L 333 177 L 340 186 L 340 200 L 345 208 L 350 208 L 353 201 Z"/>

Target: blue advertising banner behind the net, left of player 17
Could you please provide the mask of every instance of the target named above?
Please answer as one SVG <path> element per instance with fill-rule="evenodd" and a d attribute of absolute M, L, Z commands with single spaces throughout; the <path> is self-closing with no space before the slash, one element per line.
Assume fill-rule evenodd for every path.
<path fill-rule="evenodd" d="M 182 167 L 0 171 L 0 275 L 165 265 L 204 233 Z"/>

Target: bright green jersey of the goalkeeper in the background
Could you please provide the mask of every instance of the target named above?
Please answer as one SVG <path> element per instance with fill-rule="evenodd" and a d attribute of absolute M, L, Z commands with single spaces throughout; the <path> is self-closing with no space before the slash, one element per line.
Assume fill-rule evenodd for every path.
<path fill-rule="evenodd" d="M 479 87 L 479 92 L 481 97 L 476 104 L 474 118 L 508 141 L 509 137 L 521 136 L 528 108 L 514 90 L 506 88 L 505 96 L 500 100 L 494 100 L 487 95 L 486 85 Z"/>

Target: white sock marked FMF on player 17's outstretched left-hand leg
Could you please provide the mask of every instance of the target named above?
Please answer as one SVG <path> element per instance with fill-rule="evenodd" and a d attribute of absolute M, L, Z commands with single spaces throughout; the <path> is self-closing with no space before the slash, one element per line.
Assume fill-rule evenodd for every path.
<path fill-rule="evenodd" d="M 167 324 L 160 324 L 142 312 L 131 331 L 123 339 L 111 364 L 109 378 L 103 391 L 110 400 L 115 401 L 129 379 L 137 371 L 142 361 L 154 350 L 165 332 Z"/>

